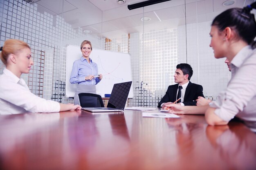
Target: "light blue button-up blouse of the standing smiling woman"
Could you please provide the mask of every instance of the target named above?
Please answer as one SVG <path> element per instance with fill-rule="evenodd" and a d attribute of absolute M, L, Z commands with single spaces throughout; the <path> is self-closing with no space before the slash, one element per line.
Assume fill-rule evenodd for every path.
<path fill-rule="evenodd" d="M 97 64 L 92 62 L 91 59 L 90 63 L 88 63 L 88 61 L 84 57 L 81 57 L 79 60 L 74 61 L 70 75 L 70 83 L 95 85 L 101 81 L 101 79 L 99 79 L 98 77 L 95 77 L 92 80 L 85 80 L 85 77 L 88 75 L 98 75 Z"/>

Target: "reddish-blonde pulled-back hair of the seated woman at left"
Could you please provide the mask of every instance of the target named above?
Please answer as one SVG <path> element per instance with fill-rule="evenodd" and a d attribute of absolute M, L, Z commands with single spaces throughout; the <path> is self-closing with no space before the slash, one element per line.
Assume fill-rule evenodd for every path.
<path fill-rule="evenodd" d="M 21 41 L 21 40 L 15 40 L 15 39 L 9 39 L 4 42 L 4 46 L 2 46 L 2 51 L 0 53 L 0 59 L 4 63 L 4 65 L 7 65 L 7 60 L 10 54 L 17 54 L 20 50 L 29 48 L 30 46 Z"/>

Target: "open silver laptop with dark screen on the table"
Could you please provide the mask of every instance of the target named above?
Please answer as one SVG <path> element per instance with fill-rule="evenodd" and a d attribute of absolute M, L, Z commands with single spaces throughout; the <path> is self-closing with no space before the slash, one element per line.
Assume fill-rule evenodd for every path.
<path fill-rule="evenodd" d="M 124 82 L 114 84 L 108 106 L 103 107 L 94 107 L 94 108 L 82 108 L 89 112 L 121 112 L 124 111 L 124 107 L 128 98 L 130 87 L 132 82 Z"/>

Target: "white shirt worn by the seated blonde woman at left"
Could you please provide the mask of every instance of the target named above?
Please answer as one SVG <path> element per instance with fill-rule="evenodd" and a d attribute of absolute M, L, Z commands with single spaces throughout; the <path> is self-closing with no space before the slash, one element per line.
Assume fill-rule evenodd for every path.
<path fill-rule="evenodd" d="M 0 75 L 0 115 L 25 112 L 59 112 L 60 104 L 38 97 L 29 91 L 24 79 L 7 68 Z"/>

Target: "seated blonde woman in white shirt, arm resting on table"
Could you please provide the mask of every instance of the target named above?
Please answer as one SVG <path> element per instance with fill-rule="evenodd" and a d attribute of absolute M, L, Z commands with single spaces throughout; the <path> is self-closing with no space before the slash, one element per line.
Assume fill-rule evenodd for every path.
<path fill-rule="evenodd" d="M 6 66 L 0 75 L 0 115 L 81 109 L 79 105 L 46 100 L 29 91 L 24 79 L 20 78 L 22 73 L 29 73 L 34 64 L 27 43 L 14 39 L 6 40 L 0 51 L 0 58 Z"/>

